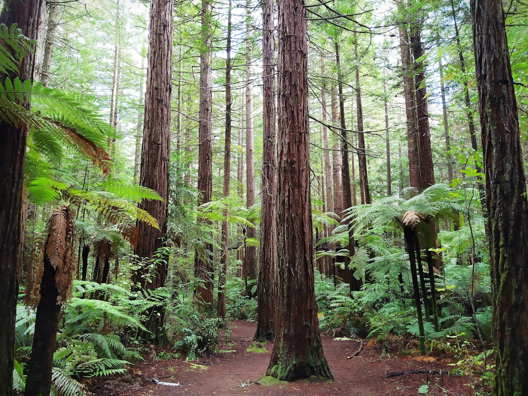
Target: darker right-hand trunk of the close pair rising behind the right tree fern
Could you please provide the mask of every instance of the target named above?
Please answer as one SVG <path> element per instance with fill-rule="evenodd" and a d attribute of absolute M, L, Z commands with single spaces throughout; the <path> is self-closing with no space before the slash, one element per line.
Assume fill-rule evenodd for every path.
<path fill-rule="evenodd" d="M 431 131 L 429 128 L 429 114 L 427 112 L 426 72 L 425 65 L 422 61 L 423 45 L 421 41 L 421 25 L 415 24 L 412 26 L 410 42 L 414 61 L 414 95 L 416 98 L 416 117 L 418 121 L 418 189 L 422 191 L 435 184 L 435 172 L 432 166 Z"/>

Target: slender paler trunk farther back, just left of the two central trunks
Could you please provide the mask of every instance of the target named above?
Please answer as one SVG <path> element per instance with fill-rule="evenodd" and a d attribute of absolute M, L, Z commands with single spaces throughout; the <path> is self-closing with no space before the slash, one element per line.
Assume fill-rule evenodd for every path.
<path fill-rule="evenodd" d="M 255 204 L 255 171 L 253 159 L 253 68 L 252 68 L 252 32 L 251 0 L 246 0 L 246 208 Z M 247 238 L 256 238 L 255 229 L 247 228 Z M 250 244 L 244 256 L 244 276 L 247 281 L 257 279 L 257 247 Z M 246 289 L 251 294 L 251 287 Z"/>

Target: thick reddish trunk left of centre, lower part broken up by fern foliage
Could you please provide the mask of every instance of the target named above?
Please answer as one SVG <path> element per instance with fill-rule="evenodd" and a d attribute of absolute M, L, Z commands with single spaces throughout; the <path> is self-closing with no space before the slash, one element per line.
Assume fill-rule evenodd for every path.
<path fill-rule="evenodd" d="M 147 89 L 145 96 L 145 122 L 141 156 L 140 185 L 157 191 L 163 201 L 148 200 L 140 208 L 152 214 L 159 223 L 155 229 L 145 222 L 138 222 L 139 241 L 135 254 L 141 259 L 152 260 L 163 247 L 166 233 L 168 200 L 168 165 L 171 137 L 171 88 L 172 88 L 172 2 L 153 0 L 150 3 L 149 50 Z M 142 289 L 154 290 L 164 286 L 167 275 L 166 260 L 155 261 L 156 274 L 146 276 L 148 268 L 142 267 L 133 274 L 133 281 Z M 151 332 L 149 341 L 163 344 L 165 312 L 163 306 L 153 307 L 145 327 Z"/>

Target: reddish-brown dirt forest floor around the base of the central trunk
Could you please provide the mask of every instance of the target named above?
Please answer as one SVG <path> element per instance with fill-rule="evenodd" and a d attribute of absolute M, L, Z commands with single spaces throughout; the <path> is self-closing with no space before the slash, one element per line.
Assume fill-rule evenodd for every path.
<path fill-rule="evenodd" d="M 256 325 L 249 322 L 231 322 L 229 337 L 221 337 L 219 350 L 193 362 L 185 357 L 157 360 L 151 348 L 145 362 L 130 368 L 129 373 L 114 378 L 98 379 L 89 384 L 98 396 L 172 396 L 172 395 L 416 395 L 421 385 L 428 384 L 428 395 L 469 396 L 473 394 L 468 376 L 449 375 L 453 369 L 448 363 L 453 358 L 436 353 L 420 356 L 383 353 L 381 346 L 363 348 L 362 352 L 347 359 L 360 349 L 360 342 L 334 341 L 323 336 L 323 350 L 334 382 L 313 380 L 268 384 L 262 380 L 268 367 L 272 344 L 267 343 L 260 353 L 248 352 L 254 346 Z M 363 341 L 366 345 L 366 341 Z M 251 350 L 251 348 L 250 348 Z M 159 352 L 159 351 L 158 351 Z M 171 352 L 171 351 L 167 351 Z M 388 377 L 390 372 L 412 370 L 435 371 L 435 374 L 414 373 Z M 158 382 L 158 383 L 156 383 Z M 171 386 L 165 383 L 178 383 Z M 422 388 L 422 394 L 423 392 Z"/>

